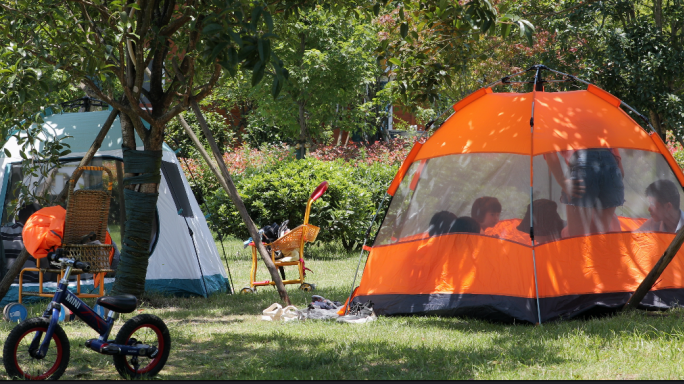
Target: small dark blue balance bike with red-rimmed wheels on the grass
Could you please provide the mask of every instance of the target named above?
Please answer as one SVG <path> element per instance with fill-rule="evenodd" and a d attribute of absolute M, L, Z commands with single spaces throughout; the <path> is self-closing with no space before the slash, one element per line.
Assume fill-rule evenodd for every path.
<path fill-rule="evenodd" d="M 109 340 L 117 314 L 135 311 L 137 299 L 133 295 L 100 297 L 97 304 L 110 310 L 106 319 L 100 317 L 67 289 L 72 270 L 88 272 L 90 265 L 62 257 L 60 251 L 48 255 L 49 260 L 59 263 L 65 272 L 43 316 L 20 323 L 5 341 L 2 360 L 10 378 L 56 380 L 64 374 L 69 365 L 70 346 L 66 333 L 58 324 L 62 304 L 100 335 L 86 341 L 85 346 L 112 355 L 114 366 L 122 377 L 145 379 L 159 373 L 171 348 L 166 324 L 154 315 L 138 315 L 124 323 L 114 340 Z"/>

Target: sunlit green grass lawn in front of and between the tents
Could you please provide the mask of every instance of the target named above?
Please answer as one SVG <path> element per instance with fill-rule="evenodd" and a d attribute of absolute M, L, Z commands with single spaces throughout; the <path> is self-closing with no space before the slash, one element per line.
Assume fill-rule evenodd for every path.
<path fill-rule="evenodd" d="M 225 241 L 236 289 L 249 282 L 251 256 Z M 315 293 L 344 301 L 359 254 L 334 245 L 307 248 Z M 219 253 L 221 248 L 219 247 Z M 258 279 L 268 279 L 262 263 Z M 293 273 L 293 272 L 292 272 Z M 357 281 L 358 284 L 358 281 Z M 288 286 L 297 307 L 311 292 Z M 159 378 L 193 379 L 682 379 L 684 311 L 638 311 L 543 326 L 500 325 L 460 318 L 380 317 L 368 324 L 270 323 L 261 311 L 278 301 L 257 294 L 147 298 L 142 313 L 169 326 L 172 350 Z M 37 315 L 44 304 L 29 310 Z M 133 314 L 122 315 L 122 320 Z M 4 340 L 12 324 L 0 323 Z M 64 329 L 71 363 L 63 379 L 119 379 L 111 357 L 86 349 L 95 334 L 82 322 Z M 6 378 L 4 370 L 0 378 Z"/>

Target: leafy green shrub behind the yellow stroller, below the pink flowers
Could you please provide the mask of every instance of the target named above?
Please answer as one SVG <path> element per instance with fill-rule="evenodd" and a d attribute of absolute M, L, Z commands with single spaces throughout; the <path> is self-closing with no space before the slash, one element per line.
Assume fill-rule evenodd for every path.
<path fill-rule="evenodd" d="M 328 191 L 312 206 L 310 223 L 321 227 L 319 240 L 339 239 L 346 249 L 353 249 L 363 242 L 370 219 L 397 168 L 381 163 L 354 166 L 340 159 L 309 157 L 288 161 L 270 172 L 241 177 L 236 187 L 259 227 L 289 220 L 288 227 L 294 228 L 304 221 L 311 192 L 328 181 Z M 249 236 L 223 189 L 209 192 L 205 198 L 212 229 L 242 238 Z"/>

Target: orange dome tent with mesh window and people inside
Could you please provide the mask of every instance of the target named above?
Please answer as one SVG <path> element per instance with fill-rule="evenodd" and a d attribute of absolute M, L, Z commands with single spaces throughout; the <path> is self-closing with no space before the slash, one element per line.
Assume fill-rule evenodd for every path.
<path fill-rule="evenodd" d="M 454 113 L 424 144 L 415 144 L 388 190 L 392 200 L 352 302 L 371 300 L 376 313 L 385 315 L 530 323 L 627 302 L 675 236 L 639 229 L 650 218 L 645 190 L 656 180 L 669 180 L 683 197 L 684 174 L 660 137 L 621 108 L 635 112 L 631 107 L 591 84 L 586 90 L 544 92 L 542 69 L 548 70 L 528 70 L 536 71 L 533 92 L 480 89 L 454 105 Z M 546 242 L 538 235 L 533 241 L 532 229 L 519 229 L 531 201 L 555 202 L 556 213 L 568 223 L 549 159 L 557 159 L 567 174 L 564 159 L 596 148 L 621 159 L 624 203 L 615 209 L 616 224 Z M 496 226 L 482 233 L 429 236 L 437 212 L 470 216 L 482 196 L 501 203 Z M 527 216 L 526 228 L 543 233 L 532 216 L 533 225 Z M 641 306 L 677 303 L 684 303 L 684 250 Z"/>

